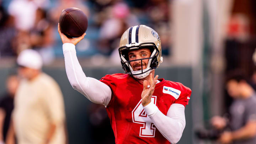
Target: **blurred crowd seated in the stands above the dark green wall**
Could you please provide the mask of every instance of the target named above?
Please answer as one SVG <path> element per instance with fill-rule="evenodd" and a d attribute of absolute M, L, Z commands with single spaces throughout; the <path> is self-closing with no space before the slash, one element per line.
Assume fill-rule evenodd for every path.
<path fill-rule="evenodd" d="M 88 17 L 86 38 L 78 46 L 79 57 L 94 55 L 116 58 L 113 51 L 130 26 L 141 23 L 162 36 L 163 54 L 169 54 L 169 5 L 165 0 L 1 0 L 0 57 L 15 57 L 23 49 L 36 49 L 44 64 L 62 57 L 57 33 L 59 15 L 78 7 Z M 15 39 L 15 41 L 13 41 Z M 118 57 L 118 56 L 117 56 Z M 115 59 L 116 60 L 116 59 Z"/>

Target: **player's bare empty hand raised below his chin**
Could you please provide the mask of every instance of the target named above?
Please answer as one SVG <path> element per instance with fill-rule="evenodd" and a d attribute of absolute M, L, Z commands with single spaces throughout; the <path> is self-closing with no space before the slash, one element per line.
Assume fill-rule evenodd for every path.
<path fill-rule="evenodd" d="M 146 106 L 151 102 L 151 97 L 155 90 L 155 85 L 158 79 L 158 75 L 153 79 L 152 74 L 149 75 L 149 80 L 143 81 L 143 91 L 142 91 L 142 106 Z M 148 87 L 149 86 L 149 87 Z"/>

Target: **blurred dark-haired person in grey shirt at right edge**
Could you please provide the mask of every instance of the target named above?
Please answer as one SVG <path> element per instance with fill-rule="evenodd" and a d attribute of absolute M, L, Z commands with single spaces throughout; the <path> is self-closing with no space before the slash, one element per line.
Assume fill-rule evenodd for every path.
<path fill-rule="evenodd" d="M 229 73 L 228 94 L 234 99 L 229 108 L 230 122 L 219 116 L 211 119 L 216 129 L 230 128 L 220 134 L 222 144 L 256 144 L 256 94 L 239 71 Z"/>

